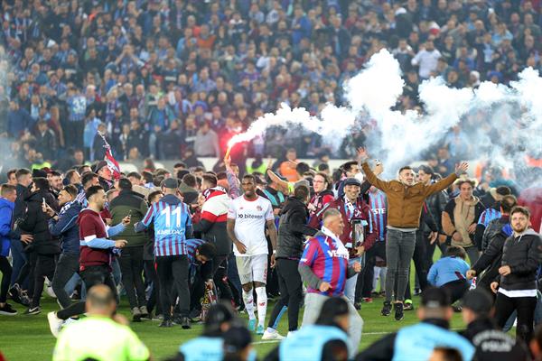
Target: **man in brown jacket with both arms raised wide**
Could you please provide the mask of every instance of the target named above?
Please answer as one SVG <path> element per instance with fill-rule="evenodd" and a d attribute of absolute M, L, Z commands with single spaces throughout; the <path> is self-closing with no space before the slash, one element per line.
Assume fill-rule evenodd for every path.
<path fill-rule="evenodd" d="M 399 170 L 398 180 L 380 180 L 369 167 L 368 154 L 360 151 L 361 168 L 369 183 L 382 190 L 388 197 L 388 236 L 386 240 L 386 258 L 388 277 L 386 277 L 386 301 L 382 316 L 391 313 L 391 299 L 397 277 L 395 295 L 395 319 L 403 319 L 403 301 L 405 298 L 408 267 L 416 246 L 416 229 L 419 227 L 420 213 L 424 200 L 437 191 L 445 190 L 458 175 L 466 171 L 468 164 L 461 163 L 455 173 L 444 180 L 427 185 L 415 182 L 416 173 L 409 166 Z"/>

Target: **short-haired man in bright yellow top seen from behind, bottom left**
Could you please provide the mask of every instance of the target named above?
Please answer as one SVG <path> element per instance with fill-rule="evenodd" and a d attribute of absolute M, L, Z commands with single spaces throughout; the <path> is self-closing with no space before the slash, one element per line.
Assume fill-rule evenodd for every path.
<path fill-rule="evenodd" d="M 100 361 L 146 361 L 149 350 L 127 326 L 127 319 L 115 314 L 117 301 L 109 287 L 98 284 L 87 294 L 89 317 L 63 328 L 53 361 L 96 359 Z"/>

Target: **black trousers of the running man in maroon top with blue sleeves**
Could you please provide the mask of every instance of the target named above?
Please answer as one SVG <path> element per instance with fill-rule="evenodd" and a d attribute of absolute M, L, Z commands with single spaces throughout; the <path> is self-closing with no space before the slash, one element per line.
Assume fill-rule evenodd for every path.
<path fill-rule="evenodd" d="M 111 289 L 111 292 L 113 292 L 115 300 L 118 300 L 117 285 L 115 284 L 115 280 L 113 280 L 113 273 L 111 273 L 111 267 L 109 267 L 107 264 L 89 265 L 85 267 L 85 269 L 81 271 L 79 275 L 85 283 L 87 293 L 89 293 L 90 289 L 93 286 L 97 284 L 105 284 Z M 70 307 L 64 310 L 59 310 L 57 312 L 57 316 L 59 319 L 69 319 L 72 316 L 78 316 L 83 313 L 85 313 L 85 301 L 79 301 L 76 303 L 72 303 Z"/>

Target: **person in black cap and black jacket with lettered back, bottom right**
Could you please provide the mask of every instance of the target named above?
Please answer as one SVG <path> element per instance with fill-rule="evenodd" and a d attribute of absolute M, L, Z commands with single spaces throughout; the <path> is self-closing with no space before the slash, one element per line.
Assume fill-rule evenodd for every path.
<path fill-rule="evenodd" d="M 491 319 L 492 304 L 491 295 L 478 288 L 463 296 L 462 314 L 467 329 L 462 335 L 476 347 L 473 358 L 478 361 L 527 360 L 525 345 L 498 329 Z"/>

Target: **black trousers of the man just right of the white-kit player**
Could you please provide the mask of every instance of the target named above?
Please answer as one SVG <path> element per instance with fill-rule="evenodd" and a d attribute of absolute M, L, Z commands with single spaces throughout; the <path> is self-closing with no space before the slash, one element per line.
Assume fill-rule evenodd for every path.
<path fill-rule="evenodd" d="M 276 319 L 283 307 L 288 308 L 288 330 L 297 329 L 299 319 L 299 305 L 303 299 L 303 290 L 301 275 L 297 271 L 299 261 L 279 258 L 276 260 L 276 275 L 278 278 L 278 288 L 280 290 L 280 300 L 275 303 L 268 327 L 276 329 Z"/>

